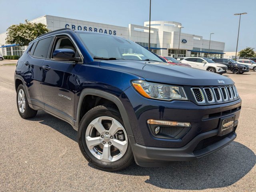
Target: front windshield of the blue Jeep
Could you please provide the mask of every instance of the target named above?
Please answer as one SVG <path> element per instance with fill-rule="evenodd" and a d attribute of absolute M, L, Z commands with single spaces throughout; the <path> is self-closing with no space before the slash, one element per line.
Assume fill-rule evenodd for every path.
<path fill-rule="evenodd" d="M 162 62 L 162 60 L 151 51 L 128 39 L 96 33 L 77 34 L 93 58 L 154 60 Z"/>

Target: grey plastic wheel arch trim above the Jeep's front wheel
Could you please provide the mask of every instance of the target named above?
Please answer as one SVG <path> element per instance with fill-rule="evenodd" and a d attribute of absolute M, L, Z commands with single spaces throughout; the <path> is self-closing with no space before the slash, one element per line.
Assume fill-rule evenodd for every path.
<path fill-rule="evenodd" d="M 77 107 L 77 113 L 76 113 L 76 122 L 75 122 L 76 127 L 78 127 L 79 123 L 80 123 L 80 110 L 82 107 L 83 99 L 86 95 L 99 96 L 99 97 L 108 99 L 108 100 L 112 101 L 114 104 L 116 104 L 116 106 L 118 107 L 118 110 L 120 111 L 120 114 L 122 116 L 122 120 L 124 121 L 124 126 L 126 128 L 127 134 L 133 136 L 132 128 L 131 128 L 131 125 L 130 125 L 130 122 L 128 119 L 128 114 L 124 108 L 124 105 L 118 99 L 118 97 L 116 97 L 108 92 L 104 92 L 104 91 L 96 90 L 96 89 L 90 89 L 90 88 L 86 88 L 86 89 L 82 90 L 82 92 L 80 94 L 79 101 L 78 101 L 78 107 Z"/>

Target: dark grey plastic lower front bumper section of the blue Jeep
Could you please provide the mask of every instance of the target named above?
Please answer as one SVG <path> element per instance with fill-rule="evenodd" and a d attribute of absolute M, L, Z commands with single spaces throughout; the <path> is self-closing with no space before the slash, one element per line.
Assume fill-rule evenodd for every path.
<path fill-rule="evenodd" d="M 133 136 L 129 136 L 130 143 L 132 145 L 132 151 L 134 153 L 134 159 L 136 164 L 144 167 L 156 167 L 167 165 L 171 161 L 190 161 L 201 158 L 203 156 L 212 154 L 217 150 L 220 150 L 224 146 L 228 145 L 236 138 L 235 129 L 237 127 L 238 120 L 235 122 L 234 131 L 222 136 L 218 142 L 214 142 L 218 134 L 218 130 L 211 130 L 204 132 L 196 136 L 188 144 L 181 148 L 158 148 L 148 147 L 137 144 Z M 202 140 L 212 139 L 213 144 L 208 144 L 205 148 L 197 150 L 198 145 Z"/>

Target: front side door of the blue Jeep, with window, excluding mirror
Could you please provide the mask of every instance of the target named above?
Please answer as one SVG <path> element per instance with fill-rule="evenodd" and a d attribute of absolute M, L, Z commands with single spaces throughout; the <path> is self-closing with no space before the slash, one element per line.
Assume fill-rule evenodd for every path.
<path fill-rule="evenodd" d="M 81 62 L 54 60 L 52 57 L 54 50 L 61 48 L 72 49 L 79 55 L 77 46 L 69 36 L 61 35 L 54 38 L 50 57 L 44 61 L 42 66 L 44 107 L 49 112 L 73 122 L 75 93 L 78 86 L 77 74 Z"/>

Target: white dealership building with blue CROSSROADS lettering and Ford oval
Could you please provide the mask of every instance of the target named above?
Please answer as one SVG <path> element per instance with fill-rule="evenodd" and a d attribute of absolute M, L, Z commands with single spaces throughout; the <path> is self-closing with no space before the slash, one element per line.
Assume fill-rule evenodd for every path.
<path fill-rule="evenodd" d="M 144 26 L 129 24 L 128 27 L 121 27 L 50 15 L 33 19 L 30 22 L 40 22 L 50 30 L 70 28 L 120 36 L 148 48 L 149 22 L 144 22 Z M 151 21 L 150 26 L 150 50 L 158 55 L 172 57 L 223 57 L 224 42 L 204 40 L 202 36 L 180 33 L 182 24 L 179 22 Z M 26 50 L 26 46 L 6 44 L 5 39 L 6 32 L 0 34 L 0 54 L 20 56 Z"/>

